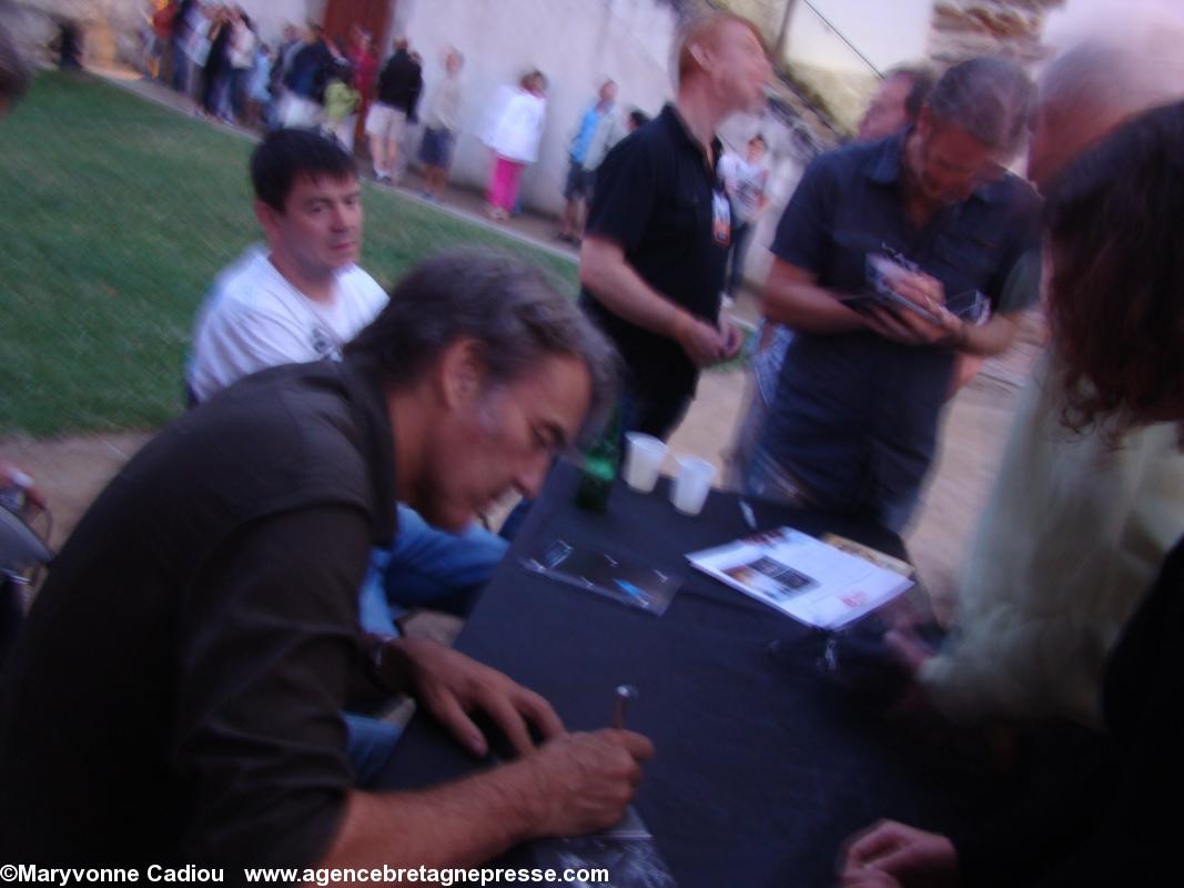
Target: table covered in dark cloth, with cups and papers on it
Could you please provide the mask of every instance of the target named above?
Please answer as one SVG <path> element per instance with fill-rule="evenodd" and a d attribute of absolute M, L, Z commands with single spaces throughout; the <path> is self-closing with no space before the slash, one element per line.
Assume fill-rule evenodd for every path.
<path fill-rule="evenodd" d="M 831 886 L 851 831 L 880 817 L 947 828 L 992 804 L 978 762 L 934 755 L 826 677 L 828 633 L 690 568 L 687 553 L 749 533 L 735 495 L 713 491 L 687 517 L 670 506 L 668 480 L 649 495 L 618 482 L 596 515 L 574 508 L 578 481 L 570 465 L 552 472 L 456 646 L 541 693 L 571 729 L 605 727 L 613 688 L 638 688 L 628 727 L 657 753 L 636 805 L 682 888 Z M 830 530 L 907 556 L 883 528 L 748 502 L 760 528 Z M 521 567 L 555 536 L 676 572 L 684 585 L 654 617 Z M 417 716 L 379 785 L 423 787 L 477 767 Z"/>

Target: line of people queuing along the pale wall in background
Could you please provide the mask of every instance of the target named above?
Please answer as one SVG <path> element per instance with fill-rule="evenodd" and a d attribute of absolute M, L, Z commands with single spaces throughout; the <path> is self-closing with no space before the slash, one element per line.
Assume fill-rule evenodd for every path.
<path fill-rule="evenodd" d="M 362 136 L 378 182 L 400 184 L 408 162 L 417 159 L 420 195 L 443 202 L 465 122 L 464 56 L 456 47 L 442 47 L 436 67 L 405 37 L 395 37 L 384 60 L 365 28 L 354 25 L 339 41 L 316 24 L 289 24 L 271 44 L 240 6 L 153 0 L 144 15 L 142 67 L 148 77 L 188 96 L 194 112 L 211 121 L 265 131 L 320 129 L 349 154 Z M 617 84 L 606 81 L 571 139 L 567 212 L 558 238 L 575 246 L 596 167 L 613 144 L 649 120 L 639 109 L 623 115 L 616 92 Z M 546 76 L 532 69 L 498 90 L 480 115 L 471 115 L 472 135 L 489 150 L 487 214 L 495 221 L 521 212 L 519 191 L 523 172 L 539 160 L 546 94 Z M 412 141 L 417 131 L 418 144 Z M 736 187 L 749 185 L 746 179 Z M 748 199 L 738 197 L 741 202 Z M 739 269 L 742 253 L 736 255 Z"/>

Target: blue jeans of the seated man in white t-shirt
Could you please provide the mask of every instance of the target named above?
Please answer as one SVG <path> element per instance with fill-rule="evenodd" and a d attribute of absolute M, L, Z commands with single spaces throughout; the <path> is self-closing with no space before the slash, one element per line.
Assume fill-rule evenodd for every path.
<path fill-rule="evenodd" d="M 506 540 L 477 525 L 461 534 L 437 530 L 400 503 L 398 536 L 390 549 L 374 549 L 362 581 L 362 629 L 398 635 L 394 617 L 411 607 L 468 613 L 508 547 Z"/>

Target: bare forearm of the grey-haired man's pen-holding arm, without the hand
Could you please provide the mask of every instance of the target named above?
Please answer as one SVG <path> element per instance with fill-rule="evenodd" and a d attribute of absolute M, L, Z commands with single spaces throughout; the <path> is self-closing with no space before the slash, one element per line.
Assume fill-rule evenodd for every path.
<path fill-rule="evenodd" d="M 529 764 L 420 792 L 354 791 L 321 867 L 468 867 L 533 838 L 541 822 Z"/>

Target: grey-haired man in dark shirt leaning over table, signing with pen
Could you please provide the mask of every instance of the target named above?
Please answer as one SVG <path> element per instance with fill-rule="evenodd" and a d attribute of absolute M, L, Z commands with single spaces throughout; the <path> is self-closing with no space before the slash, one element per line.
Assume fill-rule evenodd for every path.
<path fill-rule="evenodd" d="M 648 740 L 565 733 L 504 675 L 365 637 L 356 594 L 397 500 L 459 530 L 511 488 L 538 494 L 611 399 L 610 367 L 541 272 L 451 255 L 343 361 L 256 374 L 167 427 L 82 519 L 6 663 L 0 860 L 236 883 L 244 866 L 465 866 L 619 819 Z M 358 789 L 339 713 L 395 690 L 478 757 L 485 710 L 521 758 Z"/>

